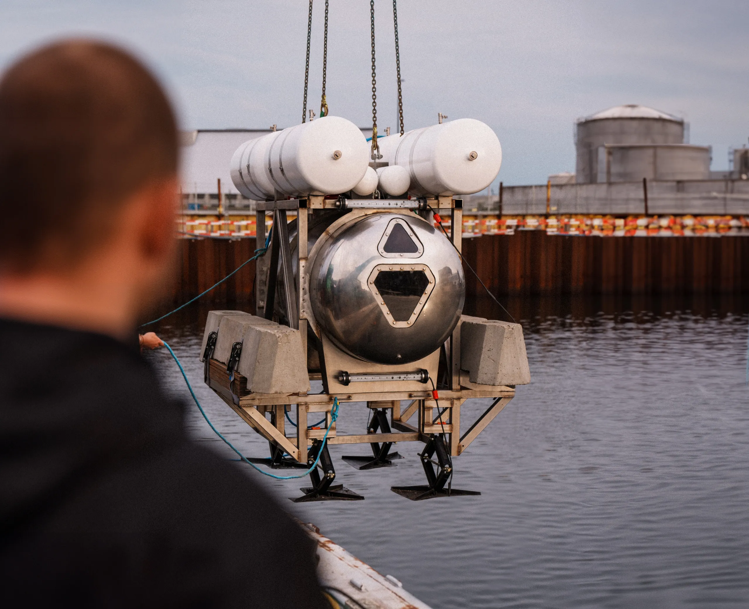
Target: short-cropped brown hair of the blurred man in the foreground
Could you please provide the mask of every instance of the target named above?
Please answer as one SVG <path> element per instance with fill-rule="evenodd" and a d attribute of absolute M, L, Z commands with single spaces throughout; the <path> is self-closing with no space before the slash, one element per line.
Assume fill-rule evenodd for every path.
<path fill-rule="evenodd" d="M 31 52 L 0 81 L 0 270 L 72 266 L 177 165 L 172 106 L 132 55 L 95 40 Z"/>

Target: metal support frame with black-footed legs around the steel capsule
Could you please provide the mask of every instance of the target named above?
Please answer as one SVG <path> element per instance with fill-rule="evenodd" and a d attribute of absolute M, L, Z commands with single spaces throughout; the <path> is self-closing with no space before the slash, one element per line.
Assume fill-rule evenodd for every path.
<path fill-rule="evenodd" d="M 307 227 L 311 215 L 321 209 L 352 209 L 369 208 L 392 211 L 393 209 L 420 209 L 420 213 L 431 218 L 431 210 L 440 214 L 450 214 L 452 244 L 461 251 L 462 201 L 452 197 L 413 200 L 389 199 L 359 199 L 354 201 L 309 197 L 307 199 L 267 201 L 257 206 L 257 243 L 258 248 L 265 245 L 265 215 L 273 213 L 273 235 L 269 254 L 258 259 L 256 267 L 255 306 L 256 314 L 266 319 L 273 318 L 276 305 L 276 288 L 281 287 L 279 295 L 284 301 L 283 309 L 288 318 L 288 325 L 300 331 L 303 349 L 307 351 L 307 328 L 309 319 L 306 318 L 304 295 L 307 290 Z M 298 276 L 294 277 L 292 266 L 292 248 L 288 235 L 287 211 L 297 211 L 297 269 Z M 276 272 L 276 269 L 278 271 Z M 452 336 L 440 349 L 440 356 L 446 364 L 446 382 L 438 391 L 424 387 L 423 390 L 393 391 L 390 380 L 370 382 L 368 388 L 375 387 L 375 391 L 356 391 L 354 385 L 339 385 L 333 393 L 323 394 L 252 394 L 246 390 L 246 379 L 233 370 L 227 370 L 225 364 L 210 358 L 207 353 L 205 380 L 216 394 L 234 409 L 255 432 L 262 435 L 270 443 L 270 459 L 258 459 L 272 468 L 305 467 L 312 465 L 318 451 L 322 450 L 320 462 L 325 477 L 321 479 L 318 472 L 312 472 L 312 489 L 302 489 L 305 495 L 295 501 L 318 501 L 321 499 L 357 499 L 360 496 L 331 486 L 335 478 L 335 470 L 327 454 L 327 445 L 321 445 L 326 429 L 327 444 L 371 444 L 373 456 L 349 459 L 360 461 L 364 465 L 360 469 L 371 469 L 391 465 L 391 459 L 398 459 L 397 453 L 389 453 L 394 442 L 421 441 L 426 444 L 420 453 L 422 465 L 428 479 L 427 486 L 399 487 L 393 491 L 407 498 L 419 500 L 440 495 L 475 494 L 452 489 L 451 458 L 460 455 L 470 443 L 476 439 L 491 423 L 491 420 L 515 396 L 515 388 L 511 386 L 476 385 L 468 379 L 467 373 L 461 371 L 460 362 L 460 325 L 452 332 Z M 318 345 L 325 348 L 325 341 Z M 322 355 L 322 354 L 321 354 Z M 433 354 L 434 355 L 434 354 Z M 431 356 L 430 356 L 431 357 Z M 324 357 L 321 357 L 321 373 L 310 372 L 310 380 L 324 380 Z M 373 367 L 377 372 L 386 372 L 388 367 Z M 395 367 L 392 367 L 395 368 Z M 398 372 L 395 373 L 397 375 Z M 395 376 L 394 375 L 394 376 Z M 393 379 L 395 380 L 395 379 Z M 340 388 L 345 391 L 339 391 Z M 345 416 L 345 410 L 350 403 L 366 402 L 372 408 L 373 419 L 367 432 L 361 435 L 339 435 L 336 423 L 331 420 L 333 400 L 339 402 L 340 414 Z M 467 429 L 461 427 L 461 406 L 469 398 L 494 398 L 494 402 Z M 405 403 L 405 406 L 404 406 Z M 285 413 L 287 408 L 294 406 L 297 414 L 297 427 L 293 435 L 287 435 L 285 429 Z M 436 412 L 435 412 L 436 410 Z M 386 413 L 389 411 L 389 424 Z M 320 429 L 308 429 L 309 416 L 324 414 L 324 426 Z M 412 419 L 416 415 L 415 424 Z M 314 420 L 314 419 L 313 419 Z M 376 422 L 376 423 L 375 423 Z M 461 433 L 461 429 L 465 429 Z M 288 455 L 285 457 L 284 455 Z M 435 462 L 432 457 L 436 456 Z M 437 465 L 437 473 L 432 468 Z M 445 488 L 446 487 L 446 488 Z M 347 495 L 348 494 L 348 495 Z"/>

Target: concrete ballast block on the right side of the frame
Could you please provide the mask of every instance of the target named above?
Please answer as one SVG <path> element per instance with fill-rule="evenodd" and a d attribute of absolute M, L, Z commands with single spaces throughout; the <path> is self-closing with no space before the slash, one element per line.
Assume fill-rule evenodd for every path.
<path fill-rule="evenodd" d="M 523 327 L 518 323 L 461 316 L 461 369 L 479 385 L 530 383 Z"/>

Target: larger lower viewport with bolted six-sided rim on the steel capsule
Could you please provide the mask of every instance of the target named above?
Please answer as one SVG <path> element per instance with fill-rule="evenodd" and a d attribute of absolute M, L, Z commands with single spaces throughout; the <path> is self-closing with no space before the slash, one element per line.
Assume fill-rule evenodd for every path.
<path fill-rule="evenodd" d="M 425 264 L 380 264 L 369 277 L 369 289 L 390 324 L 407 328 L 434 289 L 434 275 Z"/>

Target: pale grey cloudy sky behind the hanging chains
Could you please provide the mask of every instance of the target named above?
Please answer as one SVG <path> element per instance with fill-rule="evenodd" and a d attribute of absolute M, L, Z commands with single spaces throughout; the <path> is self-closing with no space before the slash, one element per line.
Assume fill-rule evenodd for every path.
<path fill-rule="evenodd" d="M 185 128 L 300 122 L 306 0 L 1 0 L 0 65 L 43 40 L 106 37 L 166 83 Z M 378 125 L 395 127 L 392 3 L 375 0 Z M 324 0 L 309 98 L 319 108 Z M 473 117 L 506 184 L 574 171 L 577 117 L 640 103 L 685 117 L 714 170 L 749 137 L 749 2 L 400 0 L 406 129 Z M 371 125 L 369 2 L 330 0 L 332 114 Z"/>

